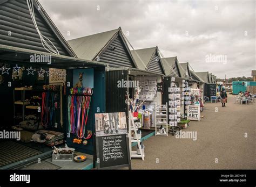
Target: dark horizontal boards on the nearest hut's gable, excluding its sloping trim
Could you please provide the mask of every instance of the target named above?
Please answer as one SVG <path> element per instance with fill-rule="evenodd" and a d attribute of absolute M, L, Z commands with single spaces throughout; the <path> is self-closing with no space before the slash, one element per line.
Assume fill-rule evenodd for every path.
<path fill-rule="evenodd" d="M 37 26 L 41 33 L 55 45 L 60 54 L 69 56 L 69 53 L 60 44 L 56 35 L 38 12 L 41 10 L 37 10 L 34 6 L 34 11 Z M 0 4 L 0 44 L 47 52 L 33 24 L 26 1 L 9 0 Z M 55 49 L 50 42 L 48 44 Z"/>

